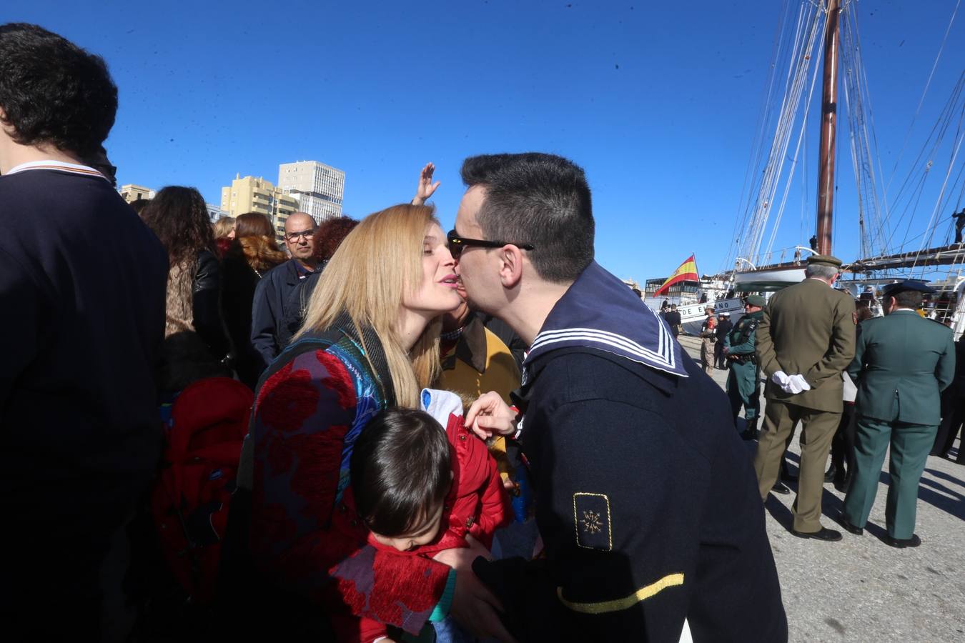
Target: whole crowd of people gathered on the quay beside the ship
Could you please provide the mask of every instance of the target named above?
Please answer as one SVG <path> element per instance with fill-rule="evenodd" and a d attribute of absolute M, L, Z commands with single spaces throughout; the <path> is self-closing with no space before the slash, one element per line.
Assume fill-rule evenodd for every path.
<path fill-rule="evenodd" d="M 279 246 L 261 214 L 212 224 L 191 187 L 124 202 L 102 147 L 117 101 L 95 54 L 0 26 L 12 638 L 786 640 L 760 497 L 801 419 L 794 533 L 830 539 L 845 367 L 845 524 L 867 521 L 890 434 L 907 473 L 889 533 L 909 544 L 937 419 L 924 384 L 921 409 L 888 415 L 874 364 L 911 360 L 881 350 L 890 332 L 934 335 L 939 385 L 953 362 L 946 329 L 889 326 L 908 289 L 856 349 L 832 259 L 813 258 L 731 331 L 708 321 L 702 367 L 676 311 L 594 260 L 590 187 L 563 157 L 465 159 L 449 232 L 428 164 L 411 201 L 292 214 Z M 706 376 L 722 359 L 730 401 Z M 752 467 L 733 420 L 743 406 L 757 433 L 757 369 Z M 532 555 L 501 553 L 512 521 L 535 521 Z"/>

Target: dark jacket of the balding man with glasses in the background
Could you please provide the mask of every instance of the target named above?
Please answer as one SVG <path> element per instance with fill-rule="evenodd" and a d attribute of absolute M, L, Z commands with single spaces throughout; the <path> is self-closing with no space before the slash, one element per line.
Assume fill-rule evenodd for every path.
<path fill-rule="evenodd" d="M 299 277 L 296 260 L 289 259 L 268 271 L 255 288 L 251 310 L 251 343 L 265 363 L 271 363 L 278 357 L 291 338 L 284 323 L 290 315 L 291 294 L 300 282 L 305 281 Z"/>

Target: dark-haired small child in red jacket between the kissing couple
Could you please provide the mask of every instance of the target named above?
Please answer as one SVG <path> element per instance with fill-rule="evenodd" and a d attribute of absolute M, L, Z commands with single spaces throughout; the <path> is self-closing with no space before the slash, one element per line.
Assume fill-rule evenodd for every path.
<path fill-rule="evenodd" d="M 352 449 L 351 489 L 369 542 L 430 557 L 468 547 L 471 535 L 489 549 L 511 515 L 496 462 L 465 427 L 455 393 L 423 389 L 422 407 L 376 415 Z M 461 635 L 448 618 L 433 625 L 437 641 Z M 385 636 L 374 621 L 364 619 L 361 630 L 365 641 Z"/>

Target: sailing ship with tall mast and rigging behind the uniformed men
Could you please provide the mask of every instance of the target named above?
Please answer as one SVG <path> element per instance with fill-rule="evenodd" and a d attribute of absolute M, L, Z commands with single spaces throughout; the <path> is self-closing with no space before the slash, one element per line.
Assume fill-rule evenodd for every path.
<path fill-rule="evenodd" d="M 965 194 L 965 163 L 958 153 L 965 139 L 965 72 L 959 74 L 922 153 L 912 163 L 897 194 L 891 195 L 889 206 L 887 186 L 890 183 L 886 183 L 878 160 L 856 5 L 854 0 L 803 0 L 796 11 L 786 5 L 779 28 L 779 34 L 786 38 L 775 47 L 761 110 L 764 116 L 752 150 L 746 194 L 735 219 L 727 267 L 716 275 L 702 278 L 697 301 L 678 308 L 685 332 L 699 332 L 706 303 L 713 304 L 718 312 L 731 311 L 731 319 L 735 320 L 742 305 L 734 295 L 766 294 L 802 281 L 808 255 L 834 254 L 832 235 L 841 94 L 847 107 L 846 141 L 856 180 L 860 255 L 845 262 L 844 278 L 836 286 L 849 291 L 856 299 L 873 301 L 878 288 L 887 283 L 902 279 L 928 281 L 938 291 L 928 303 L 930 316 L 948 323 L 956 337 L 965 330 L 965 276 L 962 274 L 965 244 L 961 238 L 965 208 L 955 213 L 962 206 Z M 954 16 L 953 12 L 946 40 Z M 944 45 L 945 41 L 939 48 L 935 67 Z M 822 62 L 821 66 L 817 65 L 818 61 Z M 807 156 L 808 106 L 813 102 L 819 70 L 822 83 L 814 234 L 808 245 L 774 250 L 795 172 L 801 168 L 806 176 L 806 164 L 801 160 Z M 916 234 L 912 227 L 920 222 L 915 217 L 915 209 L 921 204 L 925 180 L 932 173 L 943 174 L 943 181 L 924 232 Z M 953 201 L 956 196 L 957 201 Z M 897 220 L 893 216 L 896 213 Z M 951 217 L 950 213 L 953 213 Z M 902 219 L 907 219 L 908 229 L 902 242 L 896 244 L 896 231 Z M 943 233 L 945 243 L 936 244 Z M 682 299 L 680 301 L 682 303 Z M 735 314 L 734 310 L 738 312 Z"/>

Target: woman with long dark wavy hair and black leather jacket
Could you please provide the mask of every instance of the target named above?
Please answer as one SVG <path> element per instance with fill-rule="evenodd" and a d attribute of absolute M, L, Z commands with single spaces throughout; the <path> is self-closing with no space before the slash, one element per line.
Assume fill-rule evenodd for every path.
<path fill-rule="evenodd" d="M 217 364 L 228 353 L 218 304 L 221 275 L 214 234 L 205 200 L 195 188 L 174 185 L 160 190 L 144 206 L 141 218 L 168 252 L 165 362 L 159 385 L 179 390 L 183 382 L 177 373 L 185 372 L 186 366 L 192 372 L 199 364 L 220 370 Z M 171 350 L 185 343 L 194 348 Z"/>

